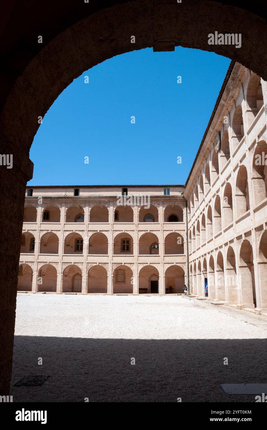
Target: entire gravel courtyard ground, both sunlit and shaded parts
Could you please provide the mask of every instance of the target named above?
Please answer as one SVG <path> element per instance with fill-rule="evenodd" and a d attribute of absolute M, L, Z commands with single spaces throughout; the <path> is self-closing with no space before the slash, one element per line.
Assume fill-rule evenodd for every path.
<path fill-rule="evenodd" d="M 196 298 L 18 293 L 10 394 L 13 402 L 255 402 L 220 384 L 266 383 L 266 351 L 265 317 Z M 14 386 L 37 375 L 49 378 Z"/>

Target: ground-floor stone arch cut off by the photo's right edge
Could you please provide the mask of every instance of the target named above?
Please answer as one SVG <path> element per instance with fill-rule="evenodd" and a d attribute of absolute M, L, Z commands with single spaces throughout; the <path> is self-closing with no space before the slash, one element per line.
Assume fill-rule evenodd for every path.
<path fill-rule="evenodd" d="M 267 230 L 261 235 L 258 257 L 259 289 L 261 292 L 261 309 L 267 310 Z"/>

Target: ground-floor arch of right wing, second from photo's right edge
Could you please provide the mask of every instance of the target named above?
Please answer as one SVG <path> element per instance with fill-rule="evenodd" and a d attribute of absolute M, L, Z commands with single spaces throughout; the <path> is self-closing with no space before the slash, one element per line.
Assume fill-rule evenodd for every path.
<path fill-rule="evenodd" d="M 239 275 L 242 294 L 242 307 L 254 308 L 257 306 L 253 251 L 249 240 L 242 242 L 239 252 Z"/>

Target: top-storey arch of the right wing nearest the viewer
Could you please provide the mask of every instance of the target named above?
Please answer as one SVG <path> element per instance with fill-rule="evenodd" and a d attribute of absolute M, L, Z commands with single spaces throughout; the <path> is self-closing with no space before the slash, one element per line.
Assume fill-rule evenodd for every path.
<path fill-rule="evenodd" d="M 252 73 L 249 78 L 249 83 L 246 92 L 246 104 L 247 104 L 247 117 L 249 127 L 252 125 L 254 118 L 258 114 L 258 111 L 264 104 L 261 78 Z"/>

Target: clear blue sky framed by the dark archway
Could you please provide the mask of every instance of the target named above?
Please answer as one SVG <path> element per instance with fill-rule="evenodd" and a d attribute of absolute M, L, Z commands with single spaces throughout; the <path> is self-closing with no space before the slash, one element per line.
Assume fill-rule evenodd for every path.
<path fill-rule="evenodd" d="M 129 52 L 84 72 L 43 118 L 28 184 L 184 184 L 229 64 L 177 47 Z"/>

